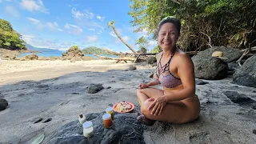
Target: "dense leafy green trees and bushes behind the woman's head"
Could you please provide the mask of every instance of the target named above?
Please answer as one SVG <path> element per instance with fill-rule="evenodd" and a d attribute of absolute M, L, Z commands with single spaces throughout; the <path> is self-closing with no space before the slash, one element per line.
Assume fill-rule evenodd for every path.
<path fill-rule="evenodd" d="M 182 23 L 179 45 L 185 50 L 203 50 L 210 46 L 246 46 L 246 35 L 256 30 L 254 0 L 130 0 L 134 32 L 147 30 L 157 38 L 158 22 L 174 16 Z M 238 36 L 239 35 L 239 36 Z M 254 35 L 255 36 L 255 35 Z M 252 36 L 251 38 L 254 38 Z M 250 43 L 251 46 L 256 42 Z"/>

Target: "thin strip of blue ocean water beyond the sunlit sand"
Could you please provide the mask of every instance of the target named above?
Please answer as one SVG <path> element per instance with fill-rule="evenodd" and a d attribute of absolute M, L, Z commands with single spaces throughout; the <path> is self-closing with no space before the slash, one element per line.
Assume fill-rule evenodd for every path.
<path fill-rule="evenodd" d="M 54 57 L 61 57 L 62 56 L 62 53 L 64 52 L 42 52 L 42 53 L 35 53 L 38 55 L 38 57 L 47 57 L 47 58 L 50 58 L 51 56 L 54 56 Z M 26 55 L 30 55 L 30 54 L 33 54 L 33 53 L 22 53 L 22 54 L 18 54 L 17 55 L 17 58 L 22 58 L 22 57 L 26 57 Z M 108 55 L 108 54 L 100 54 L 101 56 L 104 56 L 104 57 L 110 57 L 110 58 L 118 58 L 118 56 L 116 55 Z M 85 54 L 85 56 L 89 56 L 89 57 L 92 57 L 92 58 L 98 58 L 96 57 L 94 54 Z"/>

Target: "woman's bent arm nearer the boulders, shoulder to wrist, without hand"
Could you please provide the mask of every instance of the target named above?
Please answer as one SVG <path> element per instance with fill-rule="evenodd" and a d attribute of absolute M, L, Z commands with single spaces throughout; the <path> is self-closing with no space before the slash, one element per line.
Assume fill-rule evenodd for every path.
<path fill-rule="evenodd" d="M 190 56 L 181 54 L 178 62 L 178 76 L 182 80 L 183 90 L 165 95 L 166 102 L 181 101 L 195 94 L 194 64 Z"/>

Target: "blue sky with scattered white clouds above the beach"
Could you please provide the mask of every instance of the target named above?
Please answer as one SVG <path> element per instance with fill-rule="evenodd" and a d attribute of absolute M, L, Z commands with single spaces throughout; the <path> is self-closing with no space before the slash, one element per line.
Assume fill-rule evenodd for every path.
<path fill-rule="evenodd" d="M 146 30 L 134 33 L 129 0 L 0 0 L 0 18 L 11 23 L 26 43 L 42 48 L 67 50 L 77 45 L 130 52 L 107 22 L 116 21 L 118 34 L 138 50 L 141 36 L 149 39 L 151 50 L 157 45 Z"/>

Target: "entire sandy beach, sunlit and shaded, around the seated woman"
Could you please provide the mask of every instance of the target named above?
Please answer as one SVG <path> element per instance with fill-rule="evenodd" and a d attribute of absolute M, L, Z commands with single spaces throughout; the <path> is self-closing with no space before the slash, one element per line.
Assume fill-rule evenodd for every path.
<path fill-rule="evenodd" d="M 126 70 L 136 66 L 137 70 Z M 109 104 L 133 102 L 138 106 L 139 82 L 149 82 L 154 67 L 146 63 L 114 61 L 3 61 L 0 62 L 0 98 L 9 102 L 0 111 L 0 143 L 31 143 L 40 134 L 50 138 L 78 114 L 98 113 Z M 256 100 L 255 89 L 231 83 L 231 78 L 197 86 L 201 114 L 184 125 L 146 127 L 146 143 L 254 143 L 256 112 L 249 105 L 230 101 L 229 94 Z M 100 83 L 103 90 L 87 94 L 86 87 Z M 254 104 L 254 103 L 252 103 Z M 42 121 L 36 122 L 42 118 Z"/>

